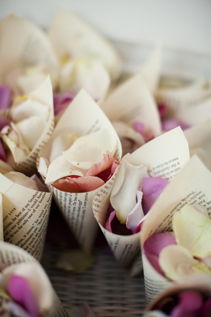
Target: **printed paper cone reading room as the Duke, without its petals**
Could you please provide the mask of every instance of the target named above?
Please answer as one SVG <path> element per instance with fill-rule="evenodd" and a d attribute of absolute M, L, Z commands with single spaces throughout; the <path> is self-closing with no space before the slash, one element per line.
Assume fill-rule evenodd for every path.
<path fill-rule="evenodd" d="M 127 155 L 124 156 L 121 163 L 127 158 Z M 188 143 L 181 128 L 178 127 L 141 146 L 131 154 L 130 160 L 134 160 L 136 165 L 146 165 L 150 176 L 162 177 L 171 182 L 180 168 L 189 160 Z M 109 184 L 104 185 L 95 196 L 93 212 L 115 258 L 122 266 L 127 266 L 140 250 L 140 232 L 129 236 L 121 236 L 105 229 L 113 187 L 118 182 L 120 182 L 120 186 L 124 182 L 124 180 L 118 180 L 120 169 L 121 165 L 110 179 Z M 131 181 L 133 182 L 133 180 Z"/>

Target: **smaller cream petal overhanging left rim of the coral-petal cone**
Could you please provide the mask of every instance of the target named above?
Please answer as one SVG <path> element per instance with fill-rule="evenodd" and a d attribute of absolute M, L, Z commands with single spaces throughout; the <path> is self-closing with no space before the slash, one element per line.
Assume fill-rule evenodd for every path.
<path fill-rule="evenodd" d="M 68 162 L 63 155 L 59 155 L 50 163 L 45 183 L 53 184 L 56 180 L 69 175 L 83 176 L 83 173 L 74 170 L 74 166 Z"/>

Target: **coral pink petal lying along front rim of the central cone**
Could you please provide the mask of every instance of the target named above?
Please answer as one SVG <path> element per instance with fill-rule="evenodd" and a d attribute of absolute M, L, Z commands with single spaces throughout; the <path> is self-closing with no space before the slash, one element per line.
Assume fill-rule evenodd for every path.
<path fill-rule="evenodd" d="M 70 193 L 84 193 L 87 191 L 93 191 L 105 182 L 94 176 L 84 176 L 84 177 L 66 177 L 65 179 L 59 179 L 53 184 L 53 187 L 59 189 L 60 191 L 67 191 Z"/>

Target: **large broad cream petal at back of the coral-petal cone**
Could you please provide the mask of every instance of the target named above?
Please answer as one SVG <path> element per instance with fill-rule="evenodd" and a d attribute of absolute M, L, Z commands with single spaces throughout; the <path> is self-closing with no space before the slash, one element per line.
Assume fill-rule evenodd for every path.
<path fill-rule="evenodd" d="M 116 140 L 109 130 L 100 129 L 78 138 L 73 145 L 63 152 L 65 159 L 77 168 L 89 170 L 92 165 L 103 159 L 107 151 L 114 154 Z"/>

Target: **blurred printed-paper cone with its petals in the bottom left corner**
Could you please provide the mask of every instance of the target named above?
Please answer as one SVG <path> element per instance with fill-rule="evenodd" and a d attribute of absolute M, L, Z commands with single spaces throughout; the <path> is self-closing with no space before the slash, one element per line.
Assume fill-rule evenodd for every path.
<path fill-rule="evenodd" d="M 12 287 L 11 279 L 14 277 L 16 282 Z M 20 279 L 22 283 L 18 290 L 17 282 L 20 283 Z M 0 242 L 0 288 L 9 291 L 13 302 L 16 302 L 18 292 L 17 301 L 31 313 L 33 309 L 35 314 L 36 309 L 40 317 L 68 316 L 40 263 L 25 250 L 6 242 Z"/>

